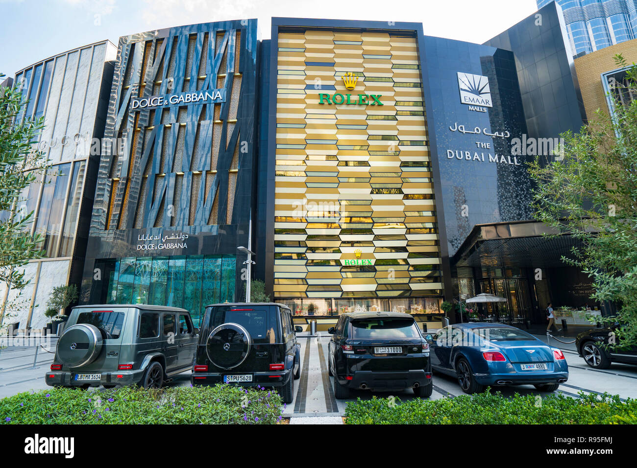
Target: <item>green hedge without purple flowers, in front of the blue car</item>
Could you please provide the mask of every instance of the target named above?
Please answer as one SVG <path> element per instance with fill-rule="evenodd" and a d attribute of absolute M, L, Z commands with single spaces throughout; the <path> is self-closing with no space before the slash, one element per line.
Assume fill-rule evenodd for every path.
<path fill-rule="evenodd" d="M 619 395 L 504 397 L 489 391 L 438 400 L 374 397 L 348 404 L 347 424 L 637 424 L 637 400 Z"/>

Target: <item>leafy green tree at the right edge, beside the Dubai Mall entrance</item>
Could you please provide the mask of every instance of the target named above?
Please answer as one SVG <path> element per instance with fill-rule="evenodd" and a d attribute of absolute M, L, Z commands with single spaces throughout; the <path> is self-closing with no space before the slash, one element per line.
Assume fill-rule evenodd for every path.
<path fill-rule="evenodd" d="M 626 66 L 621 55 L 615 60 Z M 617 315 L 603 322 L 625 324 L 615 330 L 622 346 L 637 343 L 637 101 L 630 101 L 636 92 L 633 64 L 610 96 L 613 117 L 598 110 L 580 133 L 562 134 L 559 157 L 529 167 L 537 184 L 534 216 L 579 241 L 562 261 L 589 274 L 593 299 L 618 304 Z"/>

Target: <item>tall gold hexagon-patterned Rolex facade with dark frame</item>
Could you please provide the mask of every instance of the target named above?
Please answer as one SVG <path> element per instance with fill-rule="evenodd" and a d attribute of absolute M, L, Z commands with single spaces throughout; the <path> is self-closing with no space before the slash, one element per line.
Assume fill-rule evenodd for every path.
<path fill-rule="evenodd" d="M 273 18 L 271 37 L 273 299 L 308 317 L 438 314 L 422 25 Z"/>

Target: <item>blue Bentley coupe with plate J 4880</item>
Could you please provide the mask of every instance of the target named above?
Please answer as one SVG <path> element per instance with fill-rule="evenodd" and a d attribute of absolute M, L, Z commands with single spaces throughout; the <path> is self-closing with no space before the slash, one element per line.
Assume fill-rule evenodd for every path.
<path fill-rule="evenodd" d="M 568 379 L 562 351 L 501 323 L 459 323 L 427 335 L 431 367 L 457 377 L 467 394 L 484 387 L 534 385 L 554 392 Z"/>

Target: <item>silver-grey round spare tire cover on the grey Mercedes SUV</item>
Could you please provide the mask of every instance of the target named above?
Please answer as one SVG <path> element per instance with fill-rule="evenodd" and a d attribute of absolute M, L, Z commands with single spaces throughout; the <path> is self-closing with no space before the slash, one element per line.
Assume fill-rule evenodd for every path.
<path fill-rule="evenodd" d="M 102 334 L 88 323 L 71 325 L 57 341 L 57 358 L 69 367 L 90 364 L 101 350 Z"/>

